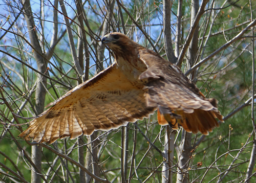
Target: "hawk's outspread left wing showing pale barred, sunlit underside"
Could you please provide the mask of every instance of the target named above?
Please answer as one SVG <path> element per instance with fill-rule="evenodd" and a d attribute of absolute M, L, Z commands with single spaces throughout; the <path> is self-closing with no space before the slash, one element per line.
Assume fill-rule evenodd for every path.
<path fill-rule="evenodd" d="M 91 135 L 148 118 L 156 108 L 147 107 L 143 86 L 129 81 L 115 64 L 84 82 L 31 121 L 19 136 L 35 142 Z"/>

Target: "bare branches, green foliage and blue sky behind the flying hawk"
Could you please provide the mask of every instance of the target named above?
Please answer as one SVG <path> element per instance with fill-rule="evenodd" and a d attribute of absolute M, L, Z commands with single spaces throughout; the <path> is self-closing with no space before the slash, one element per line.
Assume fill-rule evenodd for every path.
<path fill-rule="evenodd" d="M 0 1 L 0 182 L 254 182 L 253 0 Z M 181 67 L 225 123 L 208 136 L 156 114 L 52 145 L 17 138 L 29 120 L 113 63 L 121 32 Z M 23 124 L 15 126 L 14 124 Z"/>

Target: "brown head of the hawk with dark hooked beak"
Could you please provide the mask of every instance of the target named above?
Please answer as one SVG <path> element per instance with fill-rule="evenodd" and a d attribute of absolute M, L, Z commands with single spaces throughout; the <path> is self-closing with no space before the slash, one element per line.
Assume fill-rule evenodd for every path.
<path fill-rule="evenodd" d="M 137 53 L 134 53 L 134 51 L 137 51 L 137 48 L 140 46 L 132 39 L 119 32 L 106 34 L 102 37 L 101 42 L 107 45 L 117 57 L 124 57 L 130 54 L 135 55 Z"/>

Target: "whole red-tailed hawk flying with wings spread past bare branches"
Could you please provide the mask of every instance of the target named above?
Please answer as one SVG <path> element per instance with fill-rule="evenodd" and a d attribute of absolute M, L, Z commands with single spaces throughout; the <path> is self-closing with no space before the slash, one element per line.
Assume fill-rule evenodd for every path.
<path fill-rule="evenodd" d="M 180 68 L 121 33 L 102 38 L 115 63 L 50 103 L 19 136 L 37 143 L 91 135 L 136 122 L 158 108 L 160 125 L 208 134 L 222 116 Z"/>

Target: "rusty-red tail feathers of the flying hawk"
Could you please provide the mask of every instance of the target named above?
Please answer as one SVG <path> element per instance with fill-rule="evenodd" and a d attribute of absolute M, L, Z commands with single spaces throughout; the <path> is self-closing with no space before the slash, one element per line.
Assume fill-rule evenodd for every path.
<path fill-rule="evenodd" d="M 219 127 L 216 118 L 223 122 L 223 116 L 220 112 L 214 110 L 194 109 L 192 113 L 185 113 L 182 110 L 172 111 L 175 115 L 162 114 L 159 110 L 157 113 L 158 123 L 160 125 L 170 125 L 173 129 L 179 129 L 181 126 L 188 132 L 204 135 L 211 132 L 215 127 Z M 175 116 L 180 116 L 180 119 Z"/>

